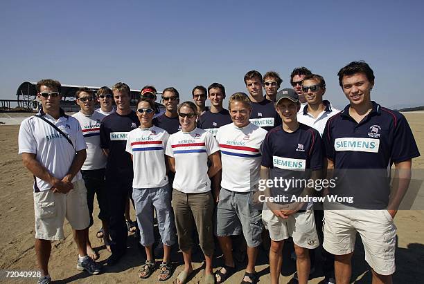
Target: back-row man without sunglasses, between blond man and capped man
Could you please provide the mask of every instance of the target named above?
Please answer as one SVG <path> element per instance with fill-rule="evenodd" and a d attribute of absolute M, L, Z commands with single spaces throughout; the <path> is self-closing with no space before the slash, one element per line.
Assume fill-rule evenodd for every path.
<path fill-rule="evenodd" d="M 251 102 L 250 122 L 256 126 L 270 131 L 275 126 L 281 125 L 281 118 L 276 113 L 274 103 L 263 96 L 262 75 L 256 70 L 251 70 L 245 75 L 245 84 L 249 91 Z"/>

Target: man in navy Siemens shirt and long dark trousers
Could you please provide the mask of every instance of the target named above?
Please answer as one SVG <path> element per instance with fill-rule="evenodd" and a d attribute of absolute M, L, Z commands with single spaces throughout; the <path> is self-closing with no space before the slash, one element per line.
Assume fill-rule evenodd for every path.
<path fill-rule="evenodd" d="M 116 112 L 103 119 L 100 124 L 100 147 L 107 155 L 105 171 L 106 192 L 109 203 L 109 235 L 112 238 L 112 255 L 108 265 L 114 265 L 127 249 L 127 225 L 125 205 L 132 193 L 132 160 L 125 152 L 128 132 L 136 129 L 139 119 L 130 108 L 130 87 L 116 83 L 112 88 Z"/>

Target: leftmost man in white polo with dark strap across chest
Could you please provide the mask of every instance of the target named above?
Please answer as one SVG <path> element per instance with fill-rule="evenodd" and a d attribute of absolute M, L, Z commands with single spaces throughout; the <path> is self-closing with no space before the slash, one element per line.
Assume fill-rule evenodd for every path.
<path fill-rule="evenodd" d="M 87 189 L 80 173 L 87 145 L 78 120 L 60 108 L 60 83 L 43 79 L 37 83 L 42 108 L 28 117 L 19 129 L 19 153 L 24 166 L 34 175 L 35 252 L 42 276 L 38 283 L 51 283 L 48 259 L 51 240 L 64 239 L 65 216 L 74 231 L 78 247 L 78 270 L 100 273 L 87 256 L 89 227 Z"/>

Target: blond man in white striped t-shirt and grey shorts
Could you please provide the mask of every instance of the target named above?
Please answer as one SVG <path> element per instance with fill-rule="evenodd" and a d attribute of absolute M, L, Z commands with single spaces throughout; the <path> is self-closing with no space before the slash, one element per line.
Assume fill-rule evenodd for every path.
<path fill-rule="evenodd" d="M 260 178 L 260 144 L 267 131 L 249 122 L 251 102 L 245 93 L 231 95 L 229 113 L 233 123 L 221 126 L 216 133 L 222 156 L 222 181 L 215 234 L 224 254 L 224 266 L 215 272 L 215 280 L 222 283 L 235 272 L 230 236 L 243 234 L 248 263 L 242 280 L 256 283 L 255 263 L 263 224 L 253 197 Z"/>

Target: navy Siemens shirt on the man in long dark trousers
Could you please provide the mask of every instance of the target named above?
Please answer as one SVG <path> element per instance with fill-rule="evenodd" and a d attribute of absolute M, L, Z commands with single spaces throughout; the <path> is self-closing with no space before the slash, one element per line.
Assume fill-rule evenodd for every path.
<path fill-rule="evenodd" d="M 100 147 L 109 149 L 106 175 L 132 178 L 131 155 L 125 149 L 127 135 L 139 127 L 140 122 L 134 111 L 128 115 L 111 113 L 100 124 Z"/>

